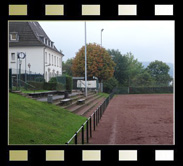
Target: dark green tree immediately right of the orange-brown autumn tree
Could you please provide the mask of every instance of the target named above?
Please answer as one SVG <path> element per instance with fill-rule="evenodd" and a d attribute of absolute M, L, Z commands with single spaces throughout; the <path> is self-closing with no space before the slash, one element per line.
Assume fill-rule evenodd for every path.
<path fill-rule="evenodd" d="M 114 77 L 118 80 L 119 84 L 124 85 L 128 80 L 128 59 L 122 56 L 119 50 L 108 50 L 112 60 L 116 64 L 114 67 Z"/>

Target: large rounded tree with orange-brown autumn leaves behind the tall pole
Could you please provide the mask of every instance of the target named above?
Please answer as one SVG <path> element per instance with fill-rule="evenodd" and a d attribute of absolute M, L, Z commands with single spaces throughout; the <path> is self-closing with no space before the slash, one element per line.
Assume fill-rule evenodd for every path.
<path fill-rule="evenodd" d="M 87 44 L 87 76 L 97 77 L 99 81 L 108 80 L 113 76 L 115 63 L 105 48 L 97 44 Z M 73 76 L 85 76 L 85 46 L 73 59 Z"/>

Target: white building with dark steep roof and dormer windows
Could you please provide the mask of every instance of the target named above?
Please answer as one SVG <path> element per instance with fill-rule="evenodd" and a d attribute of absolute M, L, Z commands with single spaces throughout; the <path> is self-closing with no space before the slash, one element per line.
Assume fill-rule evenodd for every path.
<path fill-rule="evenodd" d="M 9 22 L 9 68 L 18 68 L 19 52 L 26 54 L 21 64 L 22 70 L 44 74 L 46 81 L 57 74 L 62 75 L 64 55 L 38 22 Z"/>

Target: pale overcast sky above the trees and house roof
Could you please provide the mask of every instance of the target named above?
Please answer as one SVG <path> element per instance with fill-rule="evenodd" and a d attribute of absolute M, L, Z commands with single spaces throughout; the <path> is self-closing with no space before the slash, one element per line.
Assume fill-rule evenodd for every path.
<path fill-rule="evenodd" d="M 85 45 L 84 21 L 39 21 L 62 50 L 63 61 L 74 58 Z M 174 21 L 86 21 L 87 43 L 101 44 L 105 49 L 131 52 L 139 62 L 155 60 L 174 64 Z"/>

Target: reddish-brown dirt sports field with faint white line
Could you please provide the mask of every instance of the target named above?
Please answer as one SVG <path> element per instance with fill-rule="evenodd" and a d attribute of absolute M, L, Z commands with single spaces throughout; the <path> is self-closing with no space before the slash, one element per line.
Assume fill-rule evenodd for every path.
<path fill-rule="evenodd" d="M 173 95 L 118 95 L 90 144 L 173 144 Z"/>

